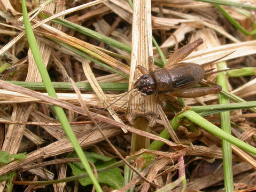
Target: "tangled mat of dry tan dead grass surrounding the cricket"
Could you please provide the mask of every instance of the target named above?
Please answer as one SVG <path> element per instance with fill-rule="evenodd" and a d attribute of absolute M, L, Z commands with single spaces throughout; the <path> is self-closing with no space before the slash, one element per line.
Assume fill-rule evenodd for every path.
<path fill-rule="evenodd" d="M 1 65 L 10 64 L 10 67 L 1 74 L 1 79 L 41 82 L 41 76 L 29 50 L 26 36 L 24 36 L 25 33 L 22 32 L 24 28 L 20 21 L 20 4 L 13 1 L 15 3 L 11 5 L 10 2 L 0 3 L 0 9 L 3 11 L 0 13 L 0 59 Z M 36 14 L 31 23 L 35 25 L 34 33 L 52 81 L 68 82 L 68 78 L 71 77 L 75 82 L 91 84 L 94 91 L 84 91 L 81 97 L 88 106 L 91 117 L 101 124 L 104 135 L 110 138 L 123 157 L 130 155 L 130 133 L 148 137 L 151 141 L 165 142 L 165 145 L 157 151 L 140 151 L 158 157 L 141 173 L 148 182 L 135 177 L 119 191 L 125 191 L 133 185 L 136 185 L 137 190 L 155 191 L 157 187 L 167 186 L 180 177 L 178 170 L 183 170 L 183 174 L 186 175 L 187 191 L 221 191 L 223 174 L 220 138 L 202 130 L 197 125 L 189 125 L 188 122 L 184 122 L 175 133 L 168 123 L 175 114 L 170 109 L 160 108 L 155 95 L 151 97 L 138 95 L 130 99 L 127 104 L 128 97 L 131 98 L 131 96 L 114 90 L 103 92 L 98 83 L 129 82 L 129 88 L 131 88 L 131 83 L 140 75 L 136 66 L 143 65 L 149 68 L 150 55 L 160 59 L 159 53 L 152 47 L 152 35 L 157 39 L 166 57 L 169 51 L 174 50 L 177 43 L 181 47 L 182 44 L 187 44 L 193 39 L 203 38 L 204 44 L 185 58 L 184 62 L 206 63 L 235 50 L 234 54 L 222 59 L 227 61 L 228 66 L 230 63 L 234 68 L 255 67 L 255 37 L 243 35 L 223 17 L 215 6 L 208 3 L 189 0 L 155 0 L 150 5 L 149 1 L 145 0 L 135 4 L 136 14 L 133 14 L 124 0 L 90 2 L 54 1 L 43 6 L 41 10 L 43 14 L 52 15 L 48 18 L 48 22 L 43 20 L 43 14 Z M 255 2 L 250 2 L 256 6 Z M 79 5 L 86 6 L 81 8 L 78 7 Z M 143 7 L 143 5 L 146 6 Z M 28 3 L 27 6 L 28 10 L 32 11 L 38 5 Z M 72 9 L 69 12 L 61 12 L 70 8 Z M 225 7 L 225 9 L 245 29 L 252 30 L 255 20 L 253 16 L 246 18 L 232 7 Z M 59 12 L 61 14 L 57 14 Z M 255 12 L 251 11 L 251 13 Z M 131 54 L 121 50 L 118 46 L 102 43 L 98 39 L 50 21 L 57 17 L 65 18 L 126 44 L 131 47 Z M 84 58 L 79 52 L 57 44 L 56 40 L 111 66 L 123 76 L 129 76 L 129 80 L 114 73 L 113 70 Z M 227 80 L 230 92 L 246 100 L 256 99 L 256 81 L 252 76 L 227 77 Z M 68 120 L 84 149 L 116 157 L 117 161 L 120 160 L 114 150 L 106 145 L 103 135 L 80 107 L 80 101 L 74 92 L 59 91 L 57 100 L 48 97 L 45 91 L 30 91 L 4 81 L 0 82 L 0 86 L 3 87 L 0 90 L 1 150 L 10 154 L 27 152 L 28 156 L 20 161 L 0 166 L 0 175 L 11 171 L 17 172 L 14 183 L 61 179 L 72 175 L 71 170 L 67 169 L 67 162 L 74 162 L 77 159 L 65 159 L 66 155 L 73 151 L 73 147 L 56 119 L 52 105 L 59 105 L 66 109 Z M 215 81 L 215 77 L 211 81 Z M 184 101 L 190 106 L 201 105 L 200 103 L 216 104 L 216 99 L 218 95 L 214 94 L 197 99 L 188 98 Z M 111 105 L 111 103 L 114 104 Z M 110 105 L 111 107 L 106 109 Z M 131 126 L 137 116 L 148 119 L 151 133 L 134 129 Z M 212 115 L 207 119 L 220 125 L 219 115 Z M 249 110 L 232 111 L 230 121 L 232 121 L 232 134 L 255 147 L 255 114 Z M 172 135 L 174 142 L 156 136 L 164 127 Z M 128 134 L 120 128 L 125 132 L 128 131 Z M 232 151 L 234 152 L 232 161 L 234 161 L 235 189 L 254 187 L 256 185 L 255 157 L 234 146 Z M 141 159 L 135 160 L 136 165 L 142 162 Z M 123 167 L 121 166 L 120 169 L 123 170 Z M 5 184 L 5 181 L 1 182 L 0 191 L 4 191 Z M 74 183 L 67 182 L 48 186 L 28 185 L 24 188 L 14 185 L 13 191 L 66 191 L 67 187 L 71 187 L 71 191 L 75 190 Z M 182 188 L 180 185 L 173 191 L 181 191 Z M 90 187 L 86 188 L 86 190 L 90 189 Z M 78 189 L 80 190 L 82 189 Z M 111 189 L 104 186 L 104 191 L 109 190 Z"/>

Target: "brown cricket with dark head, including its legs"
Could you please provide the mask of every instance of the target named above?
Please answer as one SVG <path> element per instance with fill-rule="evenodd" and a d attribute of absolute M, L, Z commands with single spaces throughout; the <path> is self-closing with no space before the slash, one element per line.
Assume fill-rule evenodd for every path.
<path fill-rule="evenodd" d="M 213 62 L 227 57 L 227 55 L 203 65 L 190 62 L 179 62 L 202 43 L 203 39 L 199 38 L 196 41 L 181 47 L 177 52 L 174 52 L 172 59 L 169 59 L 166 62 L 163 69 L 149 71 L 142 66 L 138 66 L 138 69 L 143 75 L 134 83 L 134 89 L 138 89 L 138 91 L 144 95 L 170 92 L 170 94 L 181 98 L 195 98 L 220 92 L 222 90 L 220 85 L 197 87 L 193 89 L 192 87 L 201 82 L 201 80 L 204 79 L 206 72 L 209 71 L 205 71 L 203 66 L 210 65 Z M 150 65 L 153 65 L 152 57 L 150 57 L 150 60 Z M 219 71 L 216 71 L 215 73 L 218 72 Z"/>

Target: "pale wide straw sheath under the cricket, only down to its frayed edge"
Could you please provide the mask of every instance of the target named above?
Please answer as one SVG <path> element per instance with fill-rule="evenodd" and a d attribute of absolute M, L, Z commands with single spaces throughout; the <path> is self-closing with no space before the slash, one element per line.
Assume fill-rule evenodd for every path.
<path fill-rule="evenodd" d="M 149 56 L 152 55 L 151 18 L 148 14 L 150 8 L 150 3 L 147 1 L 138 1 L 134 4 L 133 45 L 131 51 L 129 90 L 133 85 L 134 79 L 141 75 L 136 67 L 141 65 L 149 69 Z M 154 119 L 158 115 L 154 95 L 150 97 L 138 95 L 138 97 L 129 101 L 128 106 L 127 119 L 130 123 L 133 123 L 134 117 L 137 116 L 146 117 L 151 125 L 155 123 Z"/>

